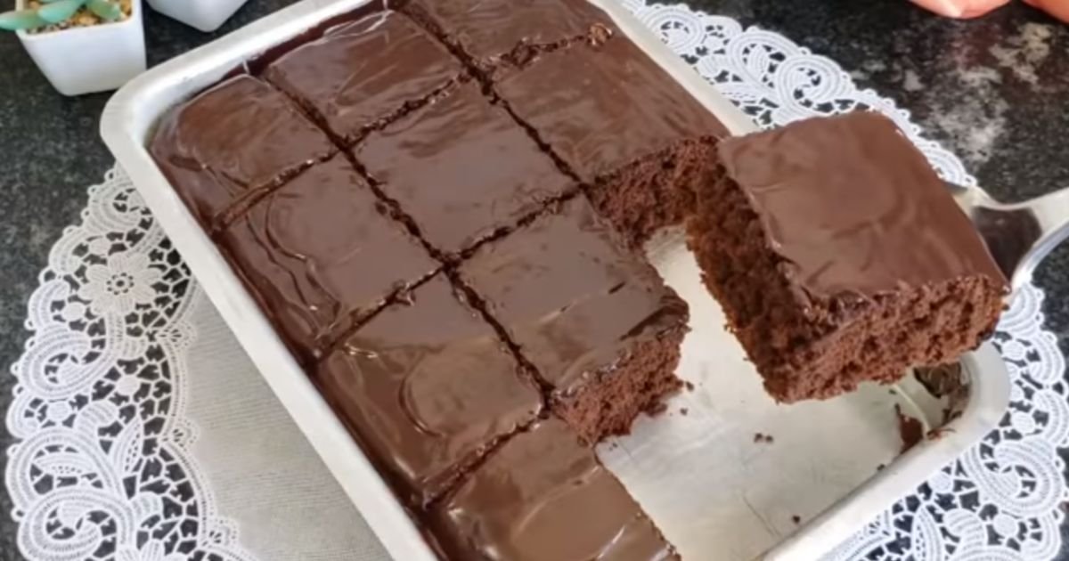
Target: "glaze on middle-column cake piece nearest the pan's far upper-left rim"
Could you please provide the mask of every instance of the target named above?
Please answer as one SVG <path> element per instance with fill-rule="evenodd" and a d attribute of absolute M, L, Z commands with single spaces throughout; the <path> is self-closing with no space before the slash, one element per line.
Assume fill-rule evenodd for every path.
<path fill-rule="evenodd" d="M 352 141 L 462 73 L 422 28 L 397 12 L 378 12 L 294 48 L 263 76 L 319 113 L 335 136 Z"/>

